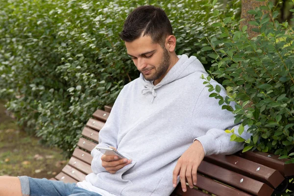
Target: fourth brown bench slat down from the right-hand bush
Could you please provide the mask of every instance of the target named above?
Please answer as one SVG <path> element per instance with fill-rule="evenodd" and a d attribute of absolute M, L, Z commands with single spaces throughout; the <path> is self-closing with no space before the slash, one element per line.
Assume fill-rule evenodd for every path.
<path fill-rule="evenodd" d="M 200 174 L 197 174 L 196 187 L 206 190 L 209 193 L 215 194 L 217 196 L 250 196 L 243 191 L 228 187 L 220 182 L 217 182 L 208 177 L 204 177 Z"/>

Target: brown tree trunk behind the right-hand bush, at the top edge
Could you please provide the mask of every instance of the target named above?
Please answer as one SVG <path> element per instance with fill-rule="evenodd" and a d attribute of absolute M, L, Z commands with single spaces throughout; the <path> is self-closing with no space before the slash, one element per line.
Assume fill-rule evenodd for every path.
<path fill-rule="evenodd" d="M 247 32 L 249 35 L 249 38 L 256 37 L 259 35 L 259 33 L 252 31 L 252 28 L 256 28 L 254 25 L 249 25 L 249 21 L 255 21 L 254 15 L 248 14 L 247 12 L 251 9 L 255 9 L 256 7 L 260 7 L 262 5 L 267 5 L 266 1 L 256 1 L 256 0 L 242 0 L 242 13 L 241 13 L 241 19 L 245 19 L 241 22 L 240 29 L 242 29 L 243 26 L 247 25 Z"/>

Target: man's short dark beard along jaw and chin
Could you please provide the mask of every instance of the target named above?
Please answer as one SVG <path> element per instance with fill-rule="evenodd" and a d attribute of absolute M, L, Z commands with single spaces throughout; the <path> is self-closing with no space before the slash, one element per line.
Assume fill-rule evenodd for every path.
<path fill-rule="evenodd" d="M 171 63 L 171 56 L 169 54 L 169 51 L 166 48 L 163 48 L 163 59 L 160 63 L 160 65 L 156 68 L 156 72 L 151 75 L 144 75 L 144 78 L 148 81 L 154 81 L 160 78 L 162 75 L 166 74 L 167 70 L 170 67 Z"/>

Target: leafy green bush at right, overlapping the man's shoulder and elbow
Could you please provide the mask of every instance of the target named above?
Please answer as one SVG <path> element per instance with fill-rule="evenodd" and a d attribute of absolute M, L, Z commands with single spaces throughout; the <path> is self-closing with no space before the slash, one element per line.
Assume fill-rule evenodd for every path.
<path fill-rule="evenodd" d="M 216 9 L 214 4 L 210 6 Z M 222 108 L 236 115 L 235 123 L 243 121 L 235 132 L 241 134 L 245 125 L 250 126 L 250 139 L 245 141 L 236 134 L 231 137 L 232 141 L 245 141 L 243 151 L 269 151 L 280 154 L 280 159 L 290 158 L 286 163 L 294 163 L 294 28 L 275 20 L 278 11 L 272 12 L 272 7 L 268 1 L 267 6 L 249 11 L 256 20 L 249 24 L 259 33 L 252 39 L 248 38 L 247 26 L 235 31 L 226 26 L 240 24 L 233 18 L 220 18 L 214 24 L 223 33 L 221 39 L 212 38 L 207 48 L 215 59 L 212 66 L 217 68 L 212 77 L 222 78 L 222 85 L 231 94 L 223 99 L 221 89 L 216 88 L 217 93 L 210 97 L 220 99 Z M 209 91 L 214 90 L 211 76 L 203 79 Z M 238 103 L 236 108 L 228 105 L 230 101 Z"/>

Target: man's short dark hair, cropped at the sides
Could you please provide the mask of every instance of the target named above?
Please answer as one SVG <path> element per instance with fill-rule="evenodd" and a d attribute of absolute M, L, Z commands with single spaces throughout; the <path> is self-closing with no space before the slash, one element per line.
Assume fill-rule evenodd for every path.
<path fill-rule="evenodd" d="M 125 42 L 132 42 L 142 32 L 143 36 L 151 36 L 153 42 L 164 45 L 166 36 L 172 35 L 172 25 L 163 9 L 153 5 L 137 7 L 126 18 L 120 37 Z"/>

